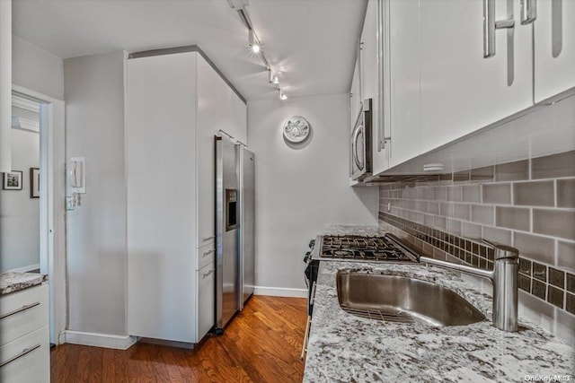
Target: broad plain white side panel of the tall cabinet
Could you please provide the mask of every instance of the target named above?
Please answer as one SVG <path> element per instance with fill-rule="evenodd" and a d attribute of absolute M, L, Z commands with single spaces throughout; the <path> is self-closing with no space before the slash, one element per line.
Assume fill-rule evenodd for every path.
<path fill-rule="evenodd" d="M 196 338 L 196 53 L 128 60 L 128 334 Z"/>

